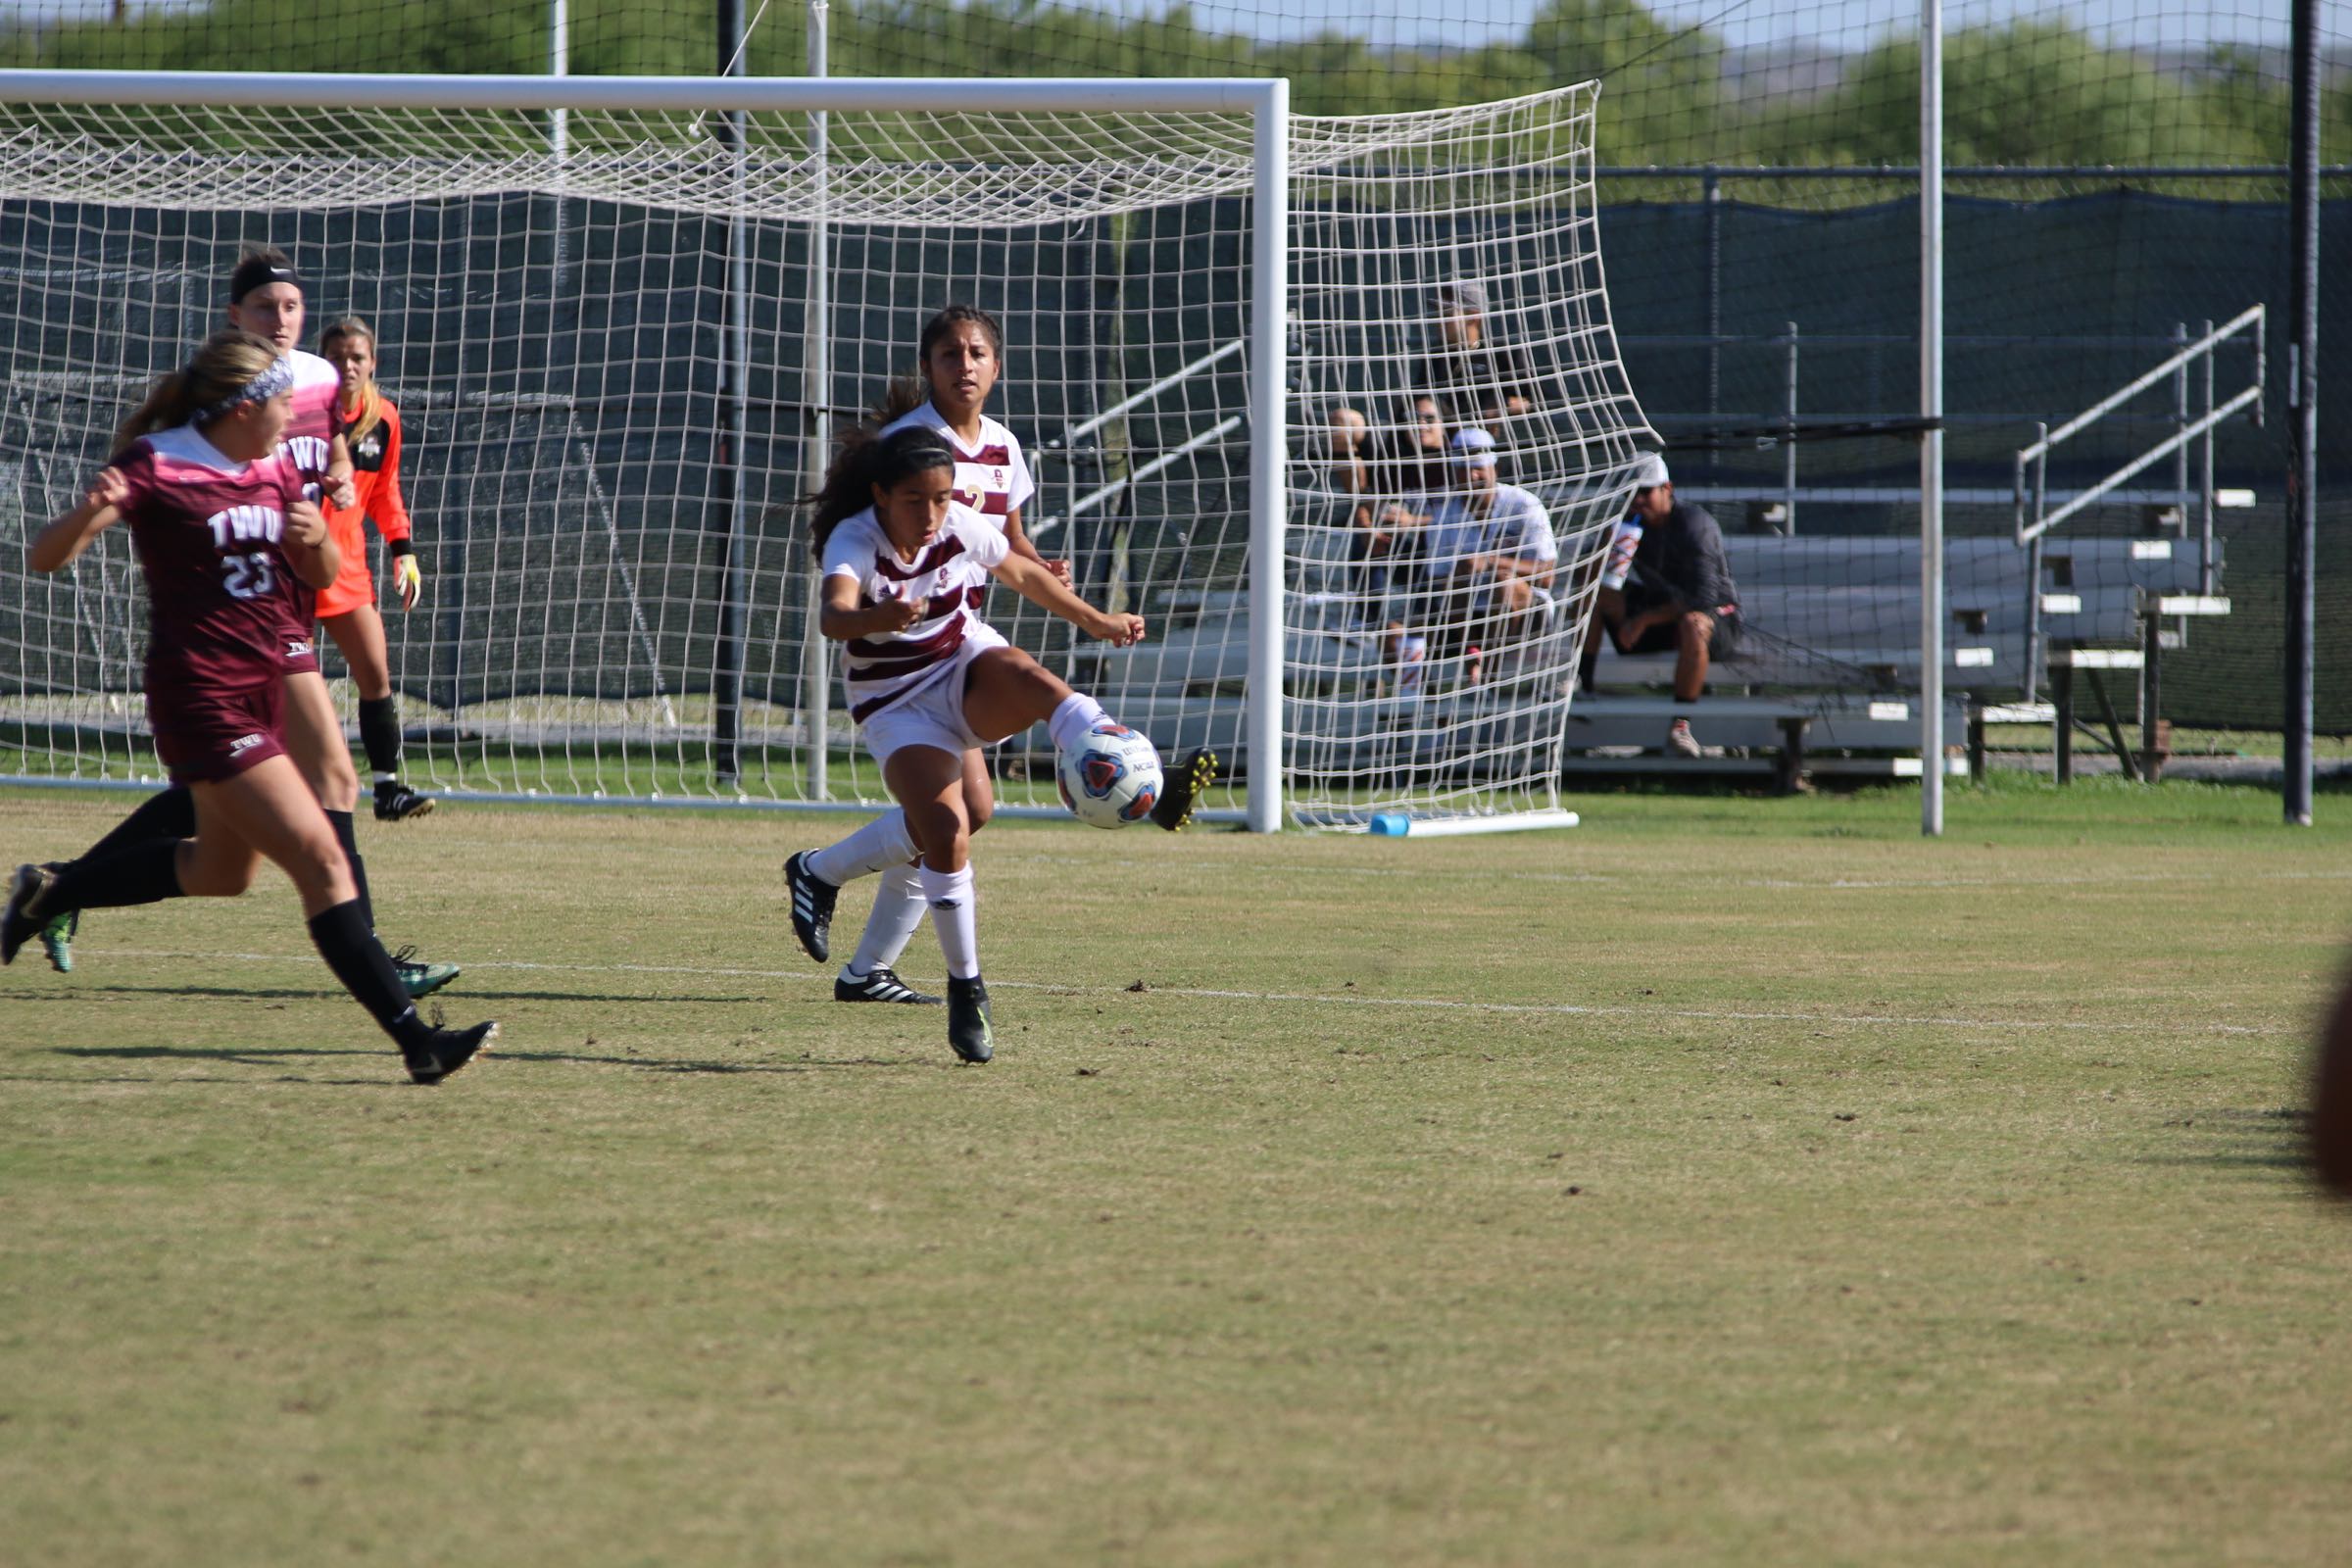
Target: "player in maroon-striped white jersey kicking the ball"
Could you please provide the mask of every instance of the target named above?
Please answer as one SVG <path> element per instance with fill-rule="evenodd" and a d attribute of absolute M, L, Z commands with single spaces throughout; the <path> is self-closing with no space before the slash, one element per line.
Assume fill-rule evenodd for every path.
<path fill-rule="evenodd" d="M 1037 722 L 1061 750 L 1105 715 L 981 621 L 976 590 L 997 578 L 1115 646 L 1141 642 L 1143 618 L 1094 609 L 1014 555 L 1000 529 L 955 501 L 955 451 L 934 430 L 854 433 L 816 498 L 814 536 L 823 562 L 818 630 L 847 644 L 849 715 L 898 802 L 908 849 L 922 856 L 915 875 L 948 961 L 948 1044 L 967 1063 L 985 1063 L 993 1037 L 969 856 L 971 823 L 993 797 L 988 771 L 971 764 L 983 745 Z M 1183 783 L 1169 778 L 1169 790 Z M 807 943 L 802 860 L 793 856 L 786 875 L 793 929 Z"/>

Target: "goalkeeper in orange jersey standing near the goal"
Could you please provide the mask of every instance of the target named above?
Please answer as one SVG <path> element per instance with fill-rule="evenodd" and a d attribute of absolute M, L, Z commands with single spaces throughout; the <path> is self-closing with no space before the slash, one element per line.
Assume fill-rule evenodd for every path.
<path fill-rule="evenodd" d="M 400 498 L 400 409 L 376 388 L 376 329 L 346 315 L 318 341 L 320 353 L 341 376 L 334 400 L 334 428 L 350 449 L 350 482 L 360 498 L 348 508 L 329 508 L 327 527 L 343 550 L 343 571 L 334 588 L 318 595 L 318 618 L 350 665 L 350 684 L 360 691 L 360 745 L 376 776 L 376 820 L 397 823 L 423 816 L 433 797 L 400 783 L 400 698 L 393 696 L 393 665 L 383 646 L 383 616 L 376 614 L 376 578 L 367 569 L 362 520 L 376 522 L 376 534 L 393 552 L 393 585 L 400 609 L 416 609 L 423 595 L 423 569 L 416 564 L 409 508 Z"/>

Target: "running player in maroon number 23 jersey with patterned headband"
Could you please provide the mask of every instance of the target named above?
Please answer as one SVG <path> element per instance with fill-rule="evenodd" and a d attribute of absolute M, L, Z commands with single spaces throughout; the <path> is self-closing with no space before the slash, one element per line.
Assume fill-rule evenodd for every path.
<path fill-rule="evenodd" d="M 82 503 L 33 538 L 33 571 L 61 571 L 99 534 L 129 524 L 148 588 L 148 724 L 191 795 L 195 832 L 85 856 L 64 872 L 19 865 L 0 910 L 0 964 L 54 914 L 233 898 L 268 858 L 301 893 L 327 969 L 397 1041 L 409 1077 L 437 1084 L 499 1025 L 440 1030 L 416 1016 L 367 924 L 350 860 L 287 755 L 287 628 L 341 567 L 308 475 L 280 447 L 294 386 L 294 364 L 268 339 L 214 334 L 125 421 Z"/>

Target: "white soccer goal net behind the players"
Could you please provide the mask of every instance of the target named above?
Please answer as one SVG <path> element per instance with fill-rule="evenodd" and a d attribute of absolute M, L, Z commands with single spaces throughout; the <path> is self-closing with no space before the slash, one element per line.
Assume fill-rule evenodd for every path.
<path fill-rule="evenodd" d="M 0 527 L 78 498 L 125 407 L 221 324 L 242 249 L 289 252 L 306 343 L 369 320 L 402 409 L 426 599 L 383 614 L 423 788 L 880 802 L 809 621 L 800 498 L 828 433 L 915 369 L 922 320 L 976 303 L 1004 327 L 990 414 L 1037 477 L 1030 536 L 1150 639 L 1091 644 L 1009 590 L 990 621 L 1162 752 L 1218 750 L 1211 816 L 1557 806 L 1597 552 L 1653 442 L 1602 282 L 1592 87 L 1287 120 L 1270 322 L 1251 113 L 1122 106 L 1148 82 L 985 113 L 858 82 L 821 115 L 696 108 L 708 82 L 452 108 L 423 103 L 459 78 L 308 78 L 306 106 L 42 80 L 0 103 Z M 1279 409 L 1251 400 L 1263 369 Z M 1254 477 L 1268 440 L 1287 463 Z M 1277 489 L 1272 571 L 1251 505 Z M 129 541 L 54 578 L 21 559 L 0 552 L 0 773 L 153 778 Z M 1279 715 L 1275 748 L 1251 712 Z M 1051 806 L 1047 762 L 1042 729 L 1002 748 L 1011 809 Z"/>

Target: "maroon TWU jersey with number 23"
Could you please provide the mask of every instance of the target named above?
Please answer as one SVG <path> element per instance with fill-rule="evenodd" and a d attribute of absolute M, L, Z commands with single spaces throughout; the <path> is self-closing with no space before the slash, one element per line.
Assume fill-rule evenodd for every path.
<path fill-rule="evenodd" d="M 221 456 L 195 425 L 132 442 L 115 461 L 148 585 L 148 696 L 240 691 L 285 679 L 294 576 L 280 541 L 303 475 L 285 447 L 254 463 Z"/>

